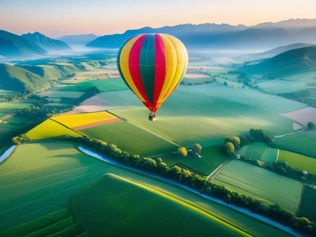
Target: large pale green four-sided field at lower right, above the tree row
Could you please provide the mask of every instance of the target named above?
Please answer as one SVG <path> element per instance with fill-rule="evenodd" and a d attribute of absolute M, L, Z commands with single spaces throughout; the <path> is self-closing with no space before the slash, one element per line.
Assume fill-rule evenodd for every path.
<path fill-rule="evenodd" d="M 214 183 L 294 211 L 301 183 L 252 164 L 233 160 L 214 178 Z"/>

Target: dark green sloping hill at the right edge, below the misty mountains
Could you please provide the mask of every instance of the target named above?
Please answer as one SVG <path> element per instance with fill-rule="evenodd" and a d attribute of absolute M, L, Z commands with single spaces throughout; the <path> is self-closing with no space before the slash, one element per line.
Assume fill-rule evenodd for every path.
<path fill-rule="evenodd" d="M 292 49 L 261 63 L 243 66 L 239 70 L 249 74 L 274 76 L 316 71 L 316 46 Z"/>

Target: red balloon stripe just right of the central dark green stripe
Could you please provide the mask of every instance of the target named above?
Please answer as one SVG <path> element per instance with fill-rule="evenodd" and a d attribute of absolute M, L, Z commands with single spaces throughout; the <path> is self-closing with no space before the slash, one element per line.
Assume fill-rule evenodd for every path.
<path fill-rule="evenodd" d="M 159 34 L 155 34 L 155 89 L 154 103 L 157 103 L 165 82 L 167 71 L 167 54 L 163 40 Z"/>

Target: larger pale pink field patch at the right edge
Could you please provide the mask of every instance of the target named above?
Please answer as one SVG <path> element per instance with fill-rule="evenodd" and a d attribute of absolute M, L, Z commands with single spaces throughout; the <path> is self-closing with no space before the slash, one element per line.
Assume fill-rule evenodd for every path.
<path fill-rule="evenodd" d="M 307 123 L 310 121 L 314 124 L 316 123 L 316 108 L 312 107 L 295 110 L 289 113 L 282 113 L 280 115 L 293 119 L 305 127 L 307 127 Z"/>

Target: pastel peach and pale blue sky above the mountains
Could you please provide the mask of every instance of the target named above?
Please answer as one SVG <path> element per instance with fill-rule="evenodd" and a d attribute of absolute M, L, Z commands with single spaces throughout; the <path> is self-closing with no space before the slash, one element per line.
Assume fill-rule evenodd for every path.
<path fill-rule="evenodd" d="M 58 37 L 185 23 L 250 26 L 316 18 L 315 9 L 315 0 L 0 0 L 0 29 Z"/>

